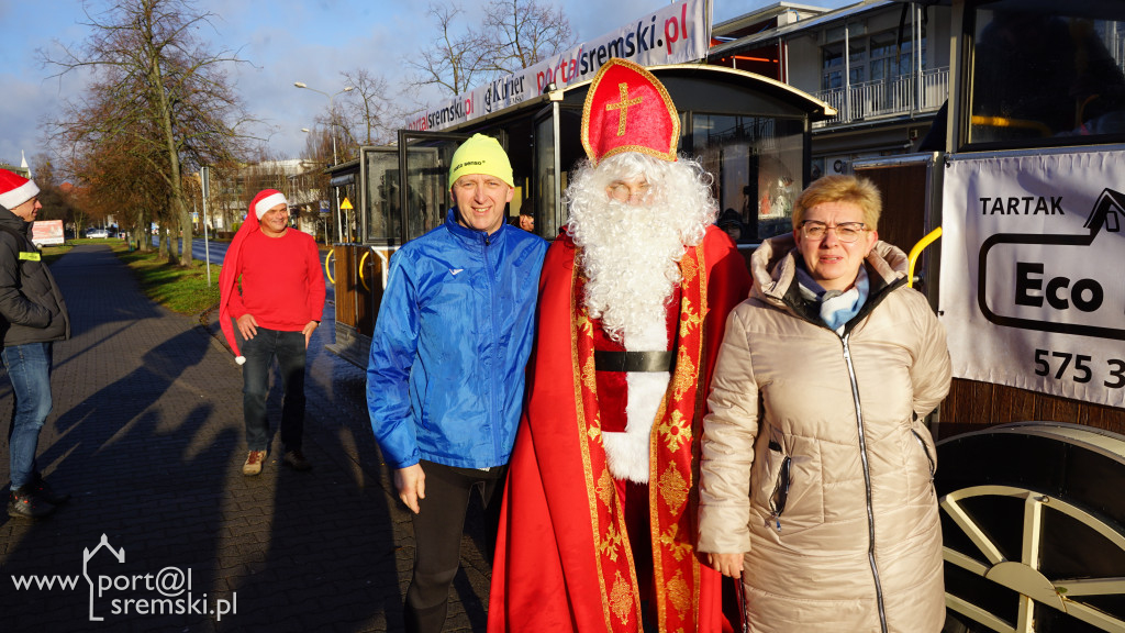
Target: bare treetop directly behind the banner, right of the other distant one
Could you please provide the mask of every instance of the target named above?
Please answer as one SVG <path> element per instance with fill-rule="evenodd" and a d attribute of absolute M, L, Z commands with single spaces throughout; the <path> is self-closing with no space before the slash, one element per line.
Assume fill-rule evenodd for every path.
<path fill-rule="evenodd" d="M 482 70 L 493 75 L 533 66 L 576 43 L 562 9 L 536 0 L 492 0 L 484 34 Z"/>

